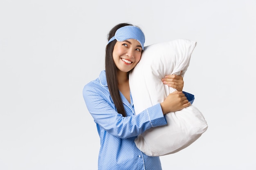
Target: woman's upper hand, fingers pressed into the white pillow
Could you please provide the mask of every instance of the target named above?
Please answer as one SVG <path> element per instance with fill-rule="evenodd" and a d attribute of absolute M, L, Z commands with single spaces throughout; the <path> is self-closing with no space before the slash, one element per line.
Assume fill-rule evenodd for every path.
<path fill-rule="evenodd" d="M 183 77 L 181 75 L 166 75 L 162 82 L 169 87 L 175 88 L 177 91 L 182 91 L 184 86 Z"/>

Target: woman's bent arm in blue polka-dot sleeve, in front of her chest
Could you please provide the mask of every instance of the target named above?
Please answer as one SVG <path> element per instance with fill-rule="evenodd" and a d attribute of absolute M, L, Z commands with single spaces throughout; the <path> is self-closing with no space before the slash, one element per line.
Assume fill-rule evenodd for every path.
<path fill-rule="evenodd" d="M 138 115 L 123 117 L 117 113 L 108 91 L 86 85 L 83 97 L 94 121 L 116 137 L 134 137 L 151 127 L 166 124 L 160 104 L 147 108 Z"/>

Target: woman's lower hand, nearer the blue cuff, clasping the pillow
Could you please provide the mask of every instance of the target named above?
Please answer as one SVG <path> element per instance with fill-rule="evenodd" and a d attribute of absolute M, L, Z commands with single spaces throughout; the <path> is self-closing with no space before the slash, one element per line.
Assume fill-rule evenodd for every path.
<path fill-rule="evenodd" d="M 186 96 L 182 91 L 175 91 L 173 93 L 170 93 L 164 102 L 160 103 L 162 107 L 163 114 L 169 112 L 176 112 L 178 110 L 181 110 L 183 108 L 186 108 L 190 106 L 189 100 L 186 99 Z"/>

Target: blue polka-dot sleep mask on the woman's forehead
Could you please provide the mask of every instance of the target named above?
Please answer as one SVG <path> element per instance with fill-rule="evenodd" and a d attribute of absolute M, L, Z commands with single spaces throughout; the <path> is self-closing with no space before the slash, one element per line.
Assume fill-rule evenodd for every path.
<path fill-rule="evenodd" d="M 139 27 L 132 25 L 123 26 L 117 29 L 115 36 L 110 38 L 108 43 L 112 42 L 113 40 L 121 42 L 128 39 L 137 40 L 141 44 L 142 50 L 144 50 L 144 33 L 141 31 L 141 29 L 139 29 Z"/>

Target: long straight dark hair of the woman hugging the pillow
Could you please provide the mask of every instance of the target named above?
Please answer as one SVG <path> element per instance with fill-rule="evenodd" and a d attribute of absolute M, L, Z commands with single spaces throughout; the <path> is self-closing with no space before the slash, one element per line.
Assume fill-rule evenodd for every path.
<path fill-rule="evenodd" d="M 132 24 L 121 23 L 114 26 L 108 33 L 108 40 L 110 40 L 110 38 L 112 38 L 115 35 L 115 32 L 117 31 L 117 29 L 127 25 L 132 25 Z M 123 106 L 122 99 L 118 89 L 117 66 L 115 65 L 115 62 L 113 60 L 113 50 L 116 42 L 117 40 L 113 40 L 106 46 L 105 71 L 106 71 L 108 89 L 113 99 L 113 102 L 117 108 L 117 112 L 121 113 L 125 117 L 126 112 L 124 110 L 124 106 Z"/>

